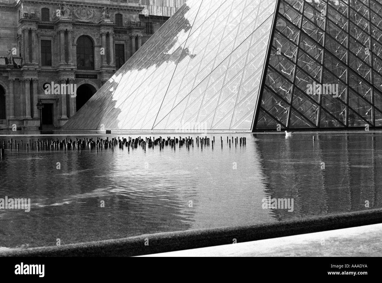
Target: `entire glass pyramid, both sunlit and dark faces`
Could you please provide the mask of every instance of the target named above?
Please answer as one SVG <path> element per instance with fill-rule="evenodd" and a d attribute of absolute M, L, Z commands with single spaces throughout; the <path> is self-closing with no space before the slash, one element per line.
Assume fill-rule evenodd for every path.
<path fill-rule="evenodd" d="M 376 0 L 188 0 L 64 129 L 382 127 L 381 40 Z"/>

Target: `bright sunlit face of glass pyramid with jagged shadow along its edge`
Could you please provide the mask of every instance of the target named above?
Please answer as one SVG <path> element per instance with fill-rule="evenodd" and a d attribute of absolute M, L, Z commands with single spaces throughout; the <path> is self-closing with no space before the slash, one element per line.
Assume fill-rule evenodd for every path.
<path fill-rule="evenodd" d="M 188 0 L 64 129 L 251 130 L 276 0 Z"/>

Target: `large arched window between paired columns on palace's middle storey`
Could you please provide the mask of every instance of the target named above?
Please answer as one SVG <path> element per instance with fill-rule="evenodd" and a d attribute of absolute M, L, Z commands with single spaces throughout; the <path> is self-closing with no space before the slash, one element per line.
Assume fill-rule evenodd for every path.
<path fill-rule="evenodd" d="M 94 70 L 93 42 L 86 35 L 81 35 L 77 39 L 77 69 Z"/>

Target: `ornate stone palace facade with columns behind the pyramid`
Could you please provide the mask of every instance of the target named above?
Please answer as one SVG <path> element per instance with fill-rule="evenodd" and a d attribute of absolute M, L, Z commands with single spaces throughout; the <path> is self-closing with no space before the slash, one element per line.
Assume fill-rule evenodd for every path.
<path fill-rule="evenodd" d="M 185 0 L 0 0 L 0 134 L 60 128 Z M 71 84 L 76 94 L 45 92 Z"/>

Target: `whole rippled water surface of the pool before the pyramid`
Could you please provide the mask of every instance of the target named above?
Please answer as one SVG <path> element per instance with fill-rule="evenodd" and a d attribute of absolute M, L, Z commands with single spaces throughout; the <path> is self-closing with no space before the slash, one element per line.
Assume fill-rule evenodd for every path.
<path fill-rule="evenodd" d="M 223 148 L 215 135 L 214 149 L 194 143 L 175 151 L 29 152 L 25 142 L 36 137 L 23 136 L 23 149 L 6 149 L 0 159 L 0 198 L 31 198 L 32 207 L 28 213 L 0 209 L 0 246 L 51 246 L 58 238 L 68 244 L 380 207 L 382 134 L 319 133 L 314 142 L 312 135 L 246 134 L 245 146 L 231 148 L 227 135 Z M 20 143 L 21 137 L 12 138 Z M 8 140 L 0 137 L 0 144 Z M 268 196 L 293 198 L 293 212 L 262 209 Z"/>

